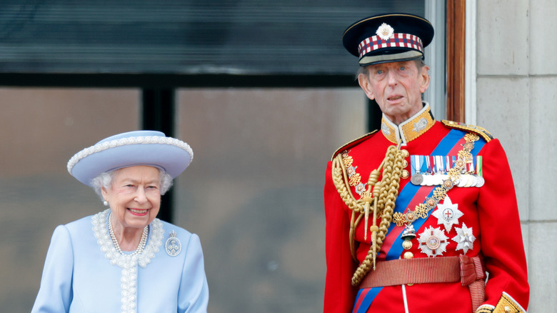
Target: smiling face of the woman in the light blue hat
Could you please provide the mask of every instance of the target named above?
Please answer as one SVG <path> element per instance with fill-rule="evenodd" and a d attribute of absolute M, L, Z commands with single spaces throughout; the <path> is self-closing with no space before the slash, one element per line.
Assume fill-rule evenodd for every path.
<path fill-rule="evenodd" d="M 102 188 L 114 227 L 142 229 L 153 222 L 161 207 L 159 169 L 140 165 L 116 171 L 112 186 Z"/>

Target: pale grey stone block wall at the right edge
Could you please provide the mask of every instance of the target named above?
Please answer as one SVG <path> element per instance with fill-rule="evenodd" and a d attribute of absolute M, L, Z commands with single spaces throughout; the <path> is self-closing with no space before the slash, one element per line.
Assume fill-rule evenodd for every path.
<path fill-rule="evenodd" d="M 477 124 L 511 164 L 534 313 L 557 307 L 556 15 L 554 0 L 477 2 Z"/>

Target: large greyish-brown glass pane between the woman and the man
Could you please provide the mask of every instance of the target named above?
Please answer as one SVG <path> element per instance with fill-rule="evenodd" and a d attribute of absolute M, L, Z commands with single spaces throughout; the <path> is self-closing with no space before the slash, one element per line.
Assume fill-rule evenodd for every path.
<path fill-rule="evenodd" d="M 366 129 L 361 89 L 182 89 L 177 99 L 194 161 L 176 184 L 174 220 L 201 238 L 209 311 L 320 312 L 326 163 Z"/>

